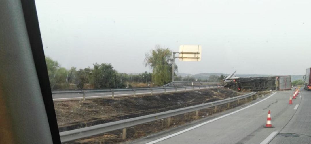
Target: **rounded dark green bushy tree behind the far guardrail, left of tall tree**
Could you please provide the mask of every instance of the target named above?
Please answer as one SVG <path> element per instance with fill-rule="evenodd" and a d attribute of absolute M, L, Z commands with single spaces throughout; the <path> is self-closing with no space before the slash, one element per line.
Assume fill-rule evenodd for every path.
<path fill-rule="evenodd" d="M 115 71 L 110 63 L 95 63 L 91 73 L 92 82 L 97 89 L 116 88 L 117 87 L 117 71 Z"/>

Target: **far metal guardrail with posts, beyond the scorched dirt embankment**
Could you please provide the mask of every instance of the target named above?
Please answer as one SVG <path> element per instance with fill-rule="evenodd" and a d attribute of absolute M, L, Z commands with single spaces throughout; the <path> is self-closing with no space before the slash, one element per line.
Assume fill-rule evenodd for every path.
<path fill-rule="evenodd" d="M 86 97 L 86 93 L 94 93 L 94 92 L 111 92 L 111 95 L 106 95 L 106 96 L 96 96 L 95 98 L 114 98 L 114 92 L 116 91 L 132 91 L 131 94 L 122 94 L 122 96 L 136 96 L 138 95 L 136 92 L 139 90 L 150 90 L 150 94 L 153 94 L 154 90 L 158 90 L 158 89 L 163 89 L 163 93 L 166 93 L 167 89 L 175 89 L 174 92 L 177 92 L 178 88 L 184 88 L 185 91 L 187 90 L 187 88 L 192 88 L 194 89 L 194 87 L 199 87 L 199 89 L 201 89 L 201 87 L 215 87 L 215 86 L 220 86 L 220 85 L 193 85 L 193 86 L 175 86 L 175 87 L 147 87 L 147 88 L 131 88 L 131 89 L 89 89 L 89 90 L 55 90 L 52 91 L 52 94 L 83 94 L 82 97 L 75 97 L 75 98 L 56 98 L 54 99 L 54 101 L 64 101 L 64 100 L 85 100 L 85 99 L 91 99 L 93 97 Z M 180 91 L 180 90 L 179 90 Z M 156 92 L 159 93 L 159 92 Z M 143 93 L 145 94 L 145 93 Z"/>

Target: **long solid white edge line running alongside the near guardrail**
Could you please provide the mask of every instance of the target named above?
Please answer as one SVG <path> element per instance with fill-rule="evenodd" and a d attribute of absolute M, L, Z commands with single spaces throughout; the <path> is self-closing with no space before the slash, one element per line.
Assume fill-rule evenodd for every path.
<path fill-rule="evenodd" d="M 160 141 L 163 141 L 163 140 L 168 139 L 168 138 L 170 138 L 170 137 L 174 137 L 174 136 L 177 136 L 177 135 L 179 135 L 179 134 L 181 134 L 181 133 L 184 133 L 184 132 L 187 132 L 187 131 L 189 131 L 189 130 L 195 129 L 195 128 L 200 127 L 200 126 L 202 126 L 202 125 L 205 125 L 205 124 L 211 123 L 211 122 L 213 122 L 213 121 L 219 120 L 219 119 L 224 118 L 224 117 L 226 117 L 226 116 L 230 116 L 230 115 L 235 114 L 235 113 L 237 113 L 237 112 L 239 112 L 239 111 L 245 110 L 245 109 L 247 109 L 248 107 L 252 107 L 252 106 L 254 106 L 254 105 L 256 105 L 256 104 L 258 104 L 258 103 L 260 103 L 260 102 L 262 102 L 262 101 L 264 101 L 264 100 L 266 100 L 266 99 L 272 97 L 274 94 L 276 94 L 276 92 L 273 93 L 273 94 L 271 94 L 271 95 L 268 96 L 267 98 L 262 99 L 262 100 L 259 101 L 259 102 L 253 103 L 252 105 L 249 105 L 249 106 L 247 106 L 247 107 L 241 108 L 241 109 L 239 109 L 239 110 L 237 110 L 237 111 L 234 111 L 234 112 L 230 112 L 230 113 L 228 113 L 228 114 L 225 114 L 225 115 L 223 115 L 223 116 L 217 117 L 217 118 L 212 119 L 212 120 L 209 120 L 209 121 L 204 122 L 204 123 L 202 123 L 202 124 L 195 125 L 195 126 L 190 127 L 190 128 L 188 128 L 188 129 L 184 129 L 184 130 L 179 131 L 179 132 L 177 132 L 177 133 L 173 133 L 173 134 L 171 134 L 171 135 L 168 135 L 168 136 L 165 136 L 165 137 L 156 139 L 156 140 L 151 141 L 151 142 L 148 142 L 148 143 L 146 143 L 146 144 L 154 144 L 154 143 L 156 143 L 156 142 L 160 142 Z"/>

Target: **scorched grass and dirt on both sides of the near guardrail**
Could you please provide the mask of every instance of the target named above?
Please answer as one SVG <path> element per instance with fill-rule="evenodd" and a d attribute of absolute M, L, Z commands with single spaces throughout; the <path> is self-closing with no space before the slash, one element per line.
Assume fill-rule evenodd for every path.
<path fill-rule="evenodd" d="M 262 92 L 262 94 L 265 93 Z M 60 131 L 66 131 L 182 107 L 189 107 L 238 95 L 241 94 L 230 89 L 215 88 L 168 94 L 154 94 L 152 96 L 146 95 L 137 97 L 120 97 L 115 99 L 54 102 L 54 105 L 59 129 Z M 203 109 L 199 111 L 198 117 L 196 117 L 195 112 L 174 116 L 171 118 L 170 126 L 168 126 L 167 118 L 136 125 L 127 128 L 126 139 L 122 139 L 122 129 L 120 129 L 66 143 L 95 144 L 127 142 L 165 129 L 183 125 L 192 120 L 204 118 L 217 112 L 237 107 L 244 103 L 248 103 L 251 100 L 252 99 L 242 99 L 239 101 L 239 104 L 236 102 L 230 103 L 229 108 L 227 108 L 226 104 L 217 106 L 216 112 L 214 112 L 214 107 Z"/>

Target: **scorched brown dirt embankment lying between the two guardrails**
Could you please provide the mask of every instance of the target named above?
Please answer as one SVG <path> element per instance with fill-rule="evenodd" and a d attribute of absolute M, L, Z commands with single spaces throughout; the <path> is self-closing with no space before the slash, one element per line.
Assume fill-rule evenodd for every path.
<path fill-rule="evenodd" d="M 225 89 L 54 102 L 59 130 L 67 131 L 241 95 Z"/>

